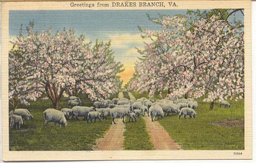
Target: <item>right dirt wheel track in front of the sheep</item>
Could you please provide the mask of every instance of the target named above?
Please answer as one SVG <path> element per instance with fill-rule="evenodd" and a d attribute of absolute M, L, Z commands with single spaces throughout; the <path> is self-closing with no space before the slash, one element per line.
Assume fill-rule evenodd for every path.
<path fill-rule="evenodd" d="M 152 144 L 156 150 L 180 150 L 181 146 L 177 144 L 166 132 L 159 122 L 151 121 L 151 117 L 144 116 L 146 127 L 151 136 Z"/>

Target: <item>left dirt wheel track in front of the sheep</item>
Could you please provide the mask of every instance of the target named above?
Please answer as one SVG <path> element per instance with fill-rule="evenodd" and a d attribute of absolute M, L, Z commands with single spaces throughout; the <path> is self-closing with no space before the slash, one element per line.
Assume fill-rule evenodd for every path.
<path fill-rule="evenodd" d="M 122 119 L 115 119 L 115 122 L 104 138 L 96 140 L 97 145 L 93 150 L 123 150 L 125 124 Z"/>

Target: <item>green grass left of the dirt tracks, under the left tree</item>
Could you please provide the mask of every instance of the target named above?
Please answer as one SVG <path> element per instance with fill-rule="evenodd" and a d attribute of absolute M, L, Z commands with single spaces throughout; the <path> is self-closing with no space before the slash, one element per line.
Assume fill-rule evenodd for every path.
<path fill-rule="evenodd" d="M 93 104 L 85 96 L 80 99 L 84 106 Z M 67 99 L 63 98 L 60 106 L 67 105 Z M 19 107 L 21 108 L 21 107 Z M 45 125 L 43 111 L 46 108 L 52 108 L 49 100 L 38 100 L 31 102 L 28 108 L 35 117 L 31 121 L 24 121 L 21 130 L 10 130 L 10 150 L 92 150 L 95 140 L 104 135 L 110 127 L 110 117 L 101 123 L 87 124 L 80 117 L 80 121 L 68 121 L 67 127 L 54 126 L 50 123 Z"/>

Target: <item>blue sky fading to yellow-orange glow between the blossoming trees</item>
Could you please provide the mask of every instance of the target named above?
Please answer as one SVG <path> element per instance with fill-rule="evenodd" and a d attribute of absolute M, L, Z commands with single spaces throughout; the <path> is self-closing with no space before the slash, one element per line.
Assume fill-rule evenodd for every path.
<path fill-rule="evenodd" d="M 148 20 L 163 15 L 186 14 L 187 10 L 47 10 L 47 11 L 10 11 L 10 39 L 19 35 L 20 25 L 27 27 L 29 22 L 35 23 L 36 31 L 51 28 L 52 34 L 57 30 L 74 29 L 75 35 L 83 34 L 86 40 L 111 40 L 115 60 L 124 64 L 125 71 L 121 78 L 123 84 L 129 81 L 134 73 L 134 63 L 140 57 L 135 47 L 142 49 L 146 39 L 141 38 L 138 25 L 142 28 L 160 30 L 160 25 Z M 241 17 L 241 14 L 236 17 Z M 240 18 L 241 19 L 241 18 Z"/>

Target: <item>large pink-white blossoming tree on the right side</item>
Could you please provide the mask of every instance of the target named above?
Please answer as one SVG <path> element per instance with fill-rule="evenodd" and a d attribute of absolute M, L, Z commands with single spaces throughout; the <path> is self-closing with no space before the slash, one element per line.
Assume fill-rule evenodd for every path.
<path fill-rule="evenodd" d="M 161 31 L 141 29 L 151 43 L 140 50 L 136 77 L 130 87 L 140 92 L 168 90 L 175 99 L 207 95 L 210 109 L 218 98 L 243 98 L 244 38 L 240 24 L 216 15 L 190 20 L 187 16 L 151 19 Z M 240 95 L 240 96 L 239 96 Z"/>

